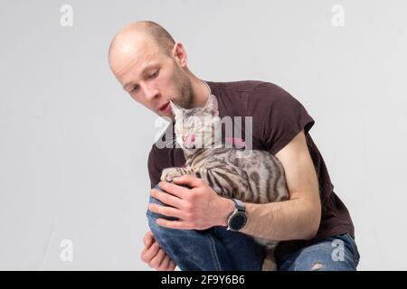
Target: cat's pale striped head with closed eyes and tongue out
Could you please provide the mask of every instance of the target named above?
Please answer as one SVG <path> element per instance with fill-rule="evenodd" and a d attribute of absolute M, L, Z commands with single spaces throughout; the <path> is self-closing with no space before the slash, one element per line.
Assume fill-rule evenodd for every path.
<path fill-rule="evenodd" d="M 170 101 L 175 116 L 175 138 L 184 150 L 210 148 L 220 144 L 222 134 L 217 132 L 221 119 L 218 101 L 210 95 L 204 107 L 186 109 Z"/>

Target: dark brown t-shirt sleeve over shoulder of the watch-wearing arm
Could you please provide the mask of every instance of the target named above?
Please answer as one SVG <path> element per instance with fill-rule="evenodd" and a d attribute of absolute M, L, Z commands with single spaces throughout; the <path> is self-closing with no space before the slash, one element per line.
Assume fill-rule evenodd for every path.
<path fill-rule="evenodd" d="M 257 94 L 263 102 L 262 137 L 267 151 L 275 155 L 304 129 L 308 134 L 314 126 L 314 119 L 305 107 L 279 86 L 265 82 L 257 87 Z"/>

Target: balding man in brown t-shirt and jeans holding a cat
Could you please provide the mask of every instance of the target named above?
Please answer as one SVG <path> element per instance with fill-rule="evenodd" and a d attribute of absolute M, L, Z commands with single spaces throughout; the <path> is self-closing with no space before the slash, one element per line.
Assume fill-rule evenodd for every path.
<path fill-rule="evenodd" d="M 157 270 L 260 270 L 264 248 L 251 238 L 258 237 L 282 241 L 279 270 L 356 269 L 352 220 L 308 134 L 314 120 L 297 99 L 268 82 L 198 79 L 187 67 L 183 45 L 148 21 L 131 23 L 115 36 L 109 65 L 130 96 L 158 116 L 174 120 L 170 99 L 180 107 L 204 107 L 214 94 L 220 117 L 253 117 L 253 148 L 279 159 L 289 189 L 289 200 L 237 207 L 192 176 L 159 182 L 164 168 L 182 166 L 185 157 L 180 148 L 153 144 L 147 210 L 152 231 L 144 238 L 144 262 Z M 245 223 L 233 228 L 238 211 Z"/>

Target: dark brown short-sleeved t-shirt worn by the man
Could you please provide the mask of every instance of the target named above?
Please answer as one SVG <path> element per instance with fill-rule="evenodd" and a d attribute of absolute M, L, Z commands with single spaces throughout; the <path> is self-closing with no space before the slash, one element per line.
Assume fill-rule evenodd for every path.
<path fill-rule="evenodd" d="M 299 247 L 312 244 L 323 238 L 349 233 L 355 238 L 354 225 L 344 203 L 336 196 L 327 166 L 314 144 L 309 129 L 315 121 L 307 110 L 286 90 L 270 82 L 245 80 L 235 82 L 206 81 L 213 95 L 218 99 L 219 116 L 252 117 L 252 148 L 277 154 L 289 141 L 304 129 L 309 154 L 314 163 L 319 182 L 322 205 L 321 223 L 317 236 L 312 240 L 290 240 L 280 242 L 277 257 Z M 239 118 L 237 118 L 239 119 Z M 240 120 L 244 124 L 244 120 Z M 234 122 L 233 122 L 234 124 Z M 170 127 L 171 126 L 171 127 Z M 171 129 L 170 124 L 167 129 Z M 244 139 L 244 125 L 241 127 Z M 174 133 L 174 130 L 173 130 Z M 161 139 L 166 140 L 166 134 Z M 231 135 L 225 135 L 230 137 Z M 185 156 L 181 148 L 158 149 L 153 144 L 148 155 L 148 172 L 151 187 L 159 182 L 161 172 L 166 167 L 183 166 Z"/>

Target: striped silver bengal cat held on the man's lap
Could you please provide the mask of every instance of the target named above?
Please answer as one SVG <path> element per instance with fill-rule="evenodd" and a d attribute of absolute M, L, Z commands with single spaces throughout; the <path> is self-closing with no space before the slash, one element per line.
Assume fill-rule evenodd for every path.
<path fill-rule="evenodd" d="M 226 198 L 251 203 L 268 203 L 289 199 L 284 169 L 267 151 L 251 150 L 247 154 L 222 144 L 222 134 L 214 134 L 221 125 L 218 102 L 210 95 L 204 107 L 186 109 L 170 101 L 175 116 L 175 141 L 185 154 L 185 167 L 163 170 L 161 181 L 189 174 L 201 178 L 213 191 Z M 172 140 L 174 141 L 174 140 Z M 277 241 L 255 238 L 266 247 L 263 271 L 277 270 L 274 250 Z"/>

